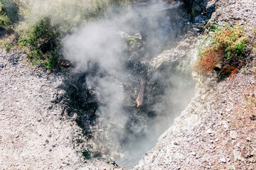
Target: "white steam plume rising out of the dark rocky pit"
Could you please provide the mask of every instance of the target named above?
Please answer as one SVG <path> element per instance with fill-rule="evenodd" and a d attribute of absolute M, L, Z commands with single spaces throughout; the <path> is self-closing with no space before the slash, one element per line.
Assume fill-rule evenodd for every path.
<path fill-rule="evenodd" d="M 106 143 L 110 156 L 123 166 L 136 164 L 147 150 L 154 147 L 159 135 L 171 125 L 193 96 L 189 75 L 178 74 L 172 68 L 150 74 L 137 72 L 135 75 L 131 73 L 131 68 L 127 68 L 127 61 L 130 60 L 127 40 L 122 38 L 120 31 L 142 35 L 146 45 L 144 55 L 136 59 L 139 63 L 156 57 L 164 43 L 174 41 L 169 38 L 174 38 L 177 30 L 174 30 L 173 23 L 168 22 L 170 17 L 166 16 L 166 12 L 159 9 L 161 6 L 155 5 L 125 13 L 113 11 L 110 17 L 85 26 L 63 40 L 65 57 L 75 62 L 77 72 L 87 71 L 90 63 L 97 63 L 100 72 L 104 73 L 104 76 L 87 77 L 87 84 L 96 87 L 99 94 L 99 116 L 108 137 L 102 142 Z M 158 81 L 161 93 L 151 96 L 150 89 L 146 89 L 148 96 L 145 102 L 154 103 L 146 106 L 149 108 L 137 108 L 129 99 L 134 91 L 124 91 L 123 86 L 137 81 L 135 92 L 138 93 L 140 80 L 146 74 L 149 76 L 146 81 Z M 129 81 L 131 77 L 133 80 Z M 150 88 L 149 83 L 146 88 Z"/>

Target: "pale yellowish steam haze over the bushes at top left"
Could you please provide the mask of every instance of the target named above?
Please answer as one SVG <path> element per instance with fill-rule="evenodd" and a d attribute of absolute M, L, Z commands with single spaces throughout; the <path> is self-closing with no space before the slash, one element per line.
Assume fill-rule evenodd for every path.
<path fill-rule="evenodd" d="M 18 30 L 26 30 L 29 25 L 49 17 L 60 32 L 69 33 L 104 16 L 111 0 L 20 0 L 18 3 L 24 21 Z"/>

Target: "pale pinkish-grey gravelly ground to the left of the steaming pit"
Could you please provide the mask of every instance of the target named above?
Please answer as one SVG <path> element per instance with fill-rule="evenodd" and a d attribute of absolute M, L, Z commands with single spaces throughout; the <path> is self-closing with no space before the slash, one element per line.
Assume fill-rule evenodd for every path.
<path fill-rule="evenodd" d="M 0 169 L 76 169 L 78 128 L 51 103 L 62 76 L 28 67 L 23 57 L 0 52 Z"/>

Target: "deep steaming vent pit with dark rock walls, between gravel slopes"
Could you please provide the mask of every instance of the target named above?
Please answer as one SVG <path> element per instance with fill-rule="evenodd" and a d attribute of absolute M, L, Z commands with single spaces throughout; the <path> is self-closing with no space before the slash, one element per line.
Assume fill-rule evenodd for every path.
<path fill-rule="evenodd" d="M 182 1 L 140 1 L 63 40 L 75 68 L 60 100 L 77 115 L 85 159 L 132 168 L 188 106 L 195 85 L 176 46 L 190 18 Z"/>

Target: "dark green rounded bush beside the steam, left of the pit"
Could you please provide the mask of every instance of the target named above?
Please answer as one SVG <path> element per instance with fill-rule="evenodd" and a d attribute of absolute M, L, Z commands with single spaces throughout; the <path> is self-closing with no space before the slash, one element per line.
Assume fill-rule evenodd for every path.
<path fill-rule="evenodd" d="M 18 39 L 18 46 L 26 50 L 28 60 L 47 69 L 60 67 L 60 33 L 50 18 L 42 18 L 28 33 Z"/>

